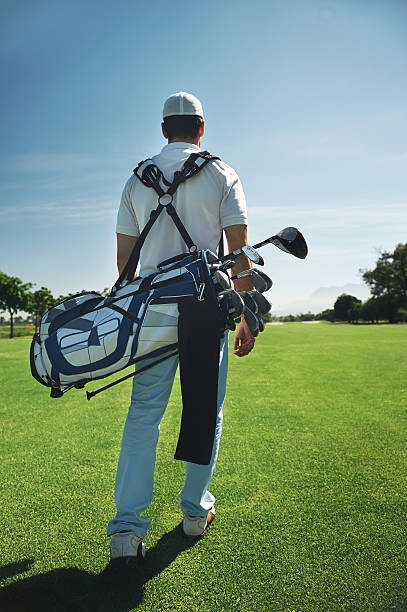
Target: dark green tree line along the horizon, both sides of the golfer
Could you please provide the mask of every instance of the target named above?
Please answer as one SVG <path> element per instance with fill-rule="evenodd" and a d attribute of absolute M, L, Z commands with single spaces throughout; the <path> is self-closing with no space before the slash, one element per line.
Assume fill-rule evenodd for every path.
<path fill-rule="evenodd" d="M 308 312 L 300 315 L 277 317 L 280 321 L 347 321 L 357 323 L 397 323 L 407 321 L 407 244 L 398 244 L 393 253 L 383 251 L 373 270 L 359 270 L 363 280 L 370 287 L 371 297 L 362 302 L 353 295 L 340 295 L 333 308 L 318 314 Z M 46 310 L 59 302 L 76 295 L 54 297 L 47 287 L 33 290 L 32 283 L 24 283 L 16 276 L 0 271 L 0 311 L 10 316 L 10 338 L 14 335 L 14 319 L 19 311 L 34 317 L 35 331 Z M 109 288 L 101 295 L 108 295 Z M 271 315 L 266 315 L 267 320 Z M 273 317 L 276 318 L 276 317 Z"/>

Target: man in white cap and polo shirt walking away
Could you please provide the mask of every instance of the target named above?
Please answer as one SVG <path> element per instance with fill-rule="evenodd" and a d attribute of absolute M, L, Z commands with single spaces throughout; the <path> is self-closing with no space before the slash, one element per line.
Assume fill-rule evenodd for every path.
<path fill-rule="evenodd" d="M 200 101 L 179 92 L 164 104 L 162 133 L 168 144 L 152 158 L 171 183 L 191 153 L 200 151 L 205 123 Z M 165 188 L 165 185 L 163 185 Z M 174 196 L 174 207 L 198 249 L 217 251 L 225 231 L 229 251 L 247 244 L 246 202 L 236 172 L 220 160 L 211 160 L 190 180 L 182 183 Z M 133 174 L 127 181 L 117 218 L 117 265 L 122 272 L 151 211 L 157 206 L 154 190 Z M 142 277 L 156 273 L 157 264 L 185 251 L 185 244 L 167 215 L 161 215 L 143 245 L 140 256 Z M 240 257 L 232 273 L 250 266 Z M 252 288 L 247 278 L 235 281 L 238 291 Z M 248 355 L 254 338 L 242 318 L 234 340 L 237 356 Z M 220 340 L 217 420 L 209 465 L 186 462 L 184 486 L 180 492 L 183 531 L 187 537 L 205 535 L 215 516 L 215 498 L 208 486 L 215 469 L 222 430 L 222 407 L 226 390 L 227 332 Z M 117 513 L 109 521 L 111 566 L 136 566 L 145 555 L 143 537 L 150 519 L 141 516 L 153 495 L 156 446 L 160 421 L 166 409 L 178 365 L 178 357 L 141 373 L 133 379 L 131 403 L 124 426 L 115 484 Z M 199 390 L 197 390 L 199 393 Z"/>

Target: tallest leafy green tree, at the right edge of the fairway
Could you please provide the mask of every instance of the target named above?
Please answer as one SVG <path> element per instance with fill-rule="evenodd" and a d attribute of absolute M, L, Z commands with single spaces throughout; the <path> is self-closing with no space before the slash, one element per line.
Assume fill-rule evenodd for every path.
<path fill-rule="evenodd" d="M 383 251 L 373 270 L 360 272 L 378 299 L 382 317 L 395 323 L 407 309 L 407 244 L 398 244 L 393 253 Z"/>

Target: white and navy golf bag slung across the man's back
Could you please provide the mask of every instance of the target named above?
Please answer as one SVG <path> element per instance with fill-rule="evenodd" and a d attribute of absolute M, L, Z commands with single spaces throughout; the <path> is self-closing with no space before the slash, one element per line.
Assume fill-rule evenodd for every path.
<path fill-rule="evenodd" d="M 31 346 L 34 378 L 60 397 L 147 357 L 174 354 L 179 303 L 208 294 L 217 303 L 208 257 L 185 255 L 157 274 L 124 281 L 107 298 L 79 294 L 48 310 Z"/>

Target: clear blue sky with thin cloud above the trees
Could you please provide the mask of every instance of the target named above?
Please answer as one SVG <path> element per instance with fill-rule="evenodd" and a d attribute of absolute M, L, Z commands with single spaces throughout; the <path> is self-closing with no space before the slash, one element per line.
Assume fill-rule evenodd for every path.
<path fill-rule="evenodd" d="M 407 2 L 0 0 L 0 269 L 54 294 L 111 286 L 124 182 L 164 99 L 197 95 L 239 173 L 275 311 L 361 283 L 407 236 Z"/>

